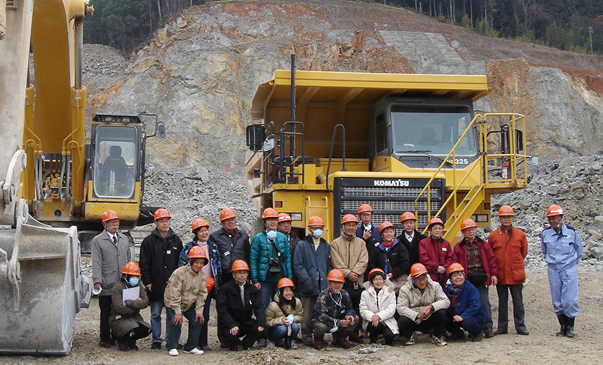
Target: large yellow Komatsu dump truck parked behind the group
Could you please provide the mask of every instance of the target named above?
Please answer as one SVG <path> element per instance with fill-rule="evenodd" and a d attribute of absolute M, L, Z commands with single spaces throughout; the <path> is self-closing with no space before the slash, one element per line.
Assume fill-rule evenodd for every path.
<path fill-rule="evenodd" d="M 489 93 L 485 76 L 277 70 L 247 128 L 256 208 L 300 234 L 320 215 L 326 239 L 364 203 L 398 228 L 404 211 L 419 228 L 439 217 L 449 240 L 463 219 L 490 225 L 491 194 L 526 187 L 531 157 L 521 114 L 475 112 Z"/>

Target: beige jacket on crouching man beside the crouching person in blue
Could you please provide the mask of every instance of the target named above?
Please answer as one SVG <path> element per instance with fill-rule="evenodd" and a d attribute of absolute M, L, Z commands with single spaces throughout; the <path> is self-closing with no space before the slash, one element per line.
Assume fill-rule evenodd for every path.
<path fill-rule="evenodd" d="M 415 288 L 412 279 L 408 278 L 407 283 L 400 288 L 400 293 L 398 293 L 398 305 L 396 306 L 398 314 L 406 316 L 419 324 L 422 319 L 417 319 L 416 316 L 428 305 L 433 305 L 433 312 L 445 310 L 449 307 L 450 300 L 442 290 L 442 286 L 431 280 L 429 275 L 423 293 Z M 427 318 L 429 316 L 424 319 Z"/>

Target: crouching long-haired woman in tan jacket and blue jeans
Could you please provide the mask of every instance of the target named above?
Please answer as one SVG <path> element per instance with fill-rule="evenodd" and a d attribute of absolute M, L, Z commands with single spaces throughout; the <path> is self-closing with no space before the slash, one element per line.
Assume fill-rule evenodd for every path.
<path fill-rule="evenodd" d="M 284 342 L 285 348 L 297 349 L 297 333 L 302 322 L 304 309 L 302 300 L 293 297 L 293 281 L 287 277 L 277 284 L 274 300 L 266 308 L 266 327 L 272 344 Z M 269 343 L 269 347 L 271 347 Z"/>

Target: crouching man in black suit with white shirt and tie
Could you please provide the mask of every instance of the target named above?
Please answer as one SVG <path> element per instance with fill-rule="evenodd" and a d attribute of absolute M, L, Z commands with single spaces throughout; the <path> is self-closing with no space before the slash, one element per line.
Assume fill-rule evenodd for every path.
<path fill-rule="evenodd" d="M 248 350 L 255 341 L 264 338 L 264 305 L 259 289 L 247 281 L 249 265 L 243 260 L 236 260 L 231 272 L 234 280 L 220 286 L 216 300 L 218 333 L 226 338 L 229 350 L 238 351 L 241 337 L 243 350 Z"/>

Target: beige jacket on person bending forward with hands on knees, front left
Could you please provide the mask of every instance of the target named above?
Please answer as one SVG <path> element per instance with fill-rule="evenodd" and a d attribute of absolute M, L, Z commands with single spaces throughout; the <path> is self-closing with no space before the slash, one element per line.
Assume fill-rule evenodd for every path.
<path fill-rule="evenodd" d="M 176 314 L 182 314 L 195 305 L 195 313 L 203 314 L 207 297 L 208 288 L 203 270 L 196 273 L 187 265 L 178 267 L 172 272 L 163 294 L 163 304 L 165 307 L 172 308 Z"/>

